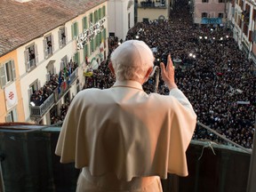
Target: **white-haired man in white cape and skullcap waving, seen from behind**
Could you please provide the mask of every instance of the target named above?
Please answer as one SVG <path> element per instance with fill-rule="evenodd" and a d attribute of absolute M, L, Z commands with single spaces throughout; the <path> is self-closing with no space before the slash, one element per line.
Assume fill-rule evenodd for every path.
<path fill-rule="evenodd" d="M 85 89 L 72 100 L 55 153 L 82 169 L 77 192 L 160 192 L 168 172 L 188 175 L 196 114 L 174 82 L 170 55 L 167 67 L 161 64 L 169 95 L 143 91 L 153 62 L 147 44 L 126 41 L 111 55 L 116 83 Z"/>

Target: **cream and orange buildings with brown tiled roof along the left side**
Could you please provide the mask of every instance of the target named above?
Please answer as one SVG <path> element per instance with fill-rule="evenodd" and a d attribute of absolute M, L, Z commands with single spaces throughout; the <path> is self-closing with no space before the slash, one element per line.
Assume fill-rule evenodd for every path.
<path fill-rule="evenodd" d="M 14 108 L 13 114 L 17 113 L 18 116 L 12 119 L 13 122 L 18 118 L 22 122 L 52 124 L 54 116 L 61 116 L 63 105 L 68 104 L 83 88 L 87 69 L 98 68 L 108 57 L 107 1 L 92 3 L 84 0 L 71 5 L 68 0 L 55 4 L 47 0 L 10 0 L 2 4 L 0 9 L 17 10 L 15 14 L 20 14 L 20 18 L 17 18 L 12 12 L 6 12 L 9 15 L 4 18 L 5 22 L 8 18 L 14 18 L 12 22 L 20 22 L 17 30 L 21 31 L 14 36 L 5 34 L 3 38 L 8 41 L 11 38 L 24 38 L 0 54 L 1 84 L 4 84 L 2 65 L 12 58 L 10 68 L 16 73 L 12 82 L 16 85 L 18 98 L 16 106 L 12 108 L 7 108 L 7 104 L 5 107 L 1 105 L 0 120 L 6 122 L 4 118 Z M 29 13 L 26 12 L 28 9 Z M 33 13 L 34 18 L 29 20 L 29 14 Z M 5 90 L 10 90 L 11 85 L 1 86 L 1 102 L 6 100 Z"/>

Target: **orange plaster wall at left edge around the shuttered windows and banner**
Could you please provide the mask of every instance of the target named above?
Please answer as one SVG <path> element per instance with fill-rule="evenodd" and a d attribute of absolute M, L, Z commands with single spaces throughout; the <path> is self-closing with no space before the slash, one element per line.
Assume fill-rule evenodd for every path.
<path fill-rule="evenodd" d="M 16 73 L 15 84 L 16 84 L 16 92 L 18 95 L 18 104 L 16 105 L 18 122 L 25 122 L 22 95 L 21 95 L 21 91 L 20 91 L 20 89 L 21 89 L 20 88 L 20 75 L 19 75 L 20 73 L 19 73 L 19 66 L 18 66 L 16 50 L 4 55 L 3 57 L 0 57 L 0 66 L 2 66 L 8 60 L 14 60 L 14 65 L 15 65 L 15 73 Z M 15 107 L 13 107 L 13 108 L 15 108 Z M 11 110 L 12 110 L 12 108 L 9 111 L 7 111 L 7 109 L 6 109 L 4 89 L 0 86 L 0 123 L 5 122 L 5 116 L 7 116 L 7 114 Z"/>

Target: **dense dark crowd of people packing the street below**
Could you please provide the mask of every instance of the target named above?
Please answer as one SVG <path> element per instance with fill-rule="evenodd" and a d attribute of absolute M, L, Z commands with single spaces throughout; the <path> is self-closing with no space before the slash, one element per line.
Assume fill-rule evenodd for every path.
<path fill-rule="evenodd" d="M 255 129 L 255 76 L 252 60 L 232 37 L 232 31 L 223 26 L 196 26 L 188 7 L 181 5 L 172 10 L 170 20 L 137 23 L 126 36 L 143 40 L 155 48 L 157 59 L 172 54 L 172 60 L 181 62 L 175 67 L 177 84 L 191 101 L 197 120 L 237 144 L 252 148 Z M 114 43 L 113 43 L 114 42 Z M 118 39 L 111 41 L 111 48 L 118 46 Z M 88 77 L 87 87 L 110 87 L 114 82 L 107 62 Z M 144 84 L 145 92 L 156 91 L 156 76 Z M 159 82 L 157 92 L 166 94 L 168 89 Z M 195 140 L 223 142 L 220 137 L 197 126 Z"/>

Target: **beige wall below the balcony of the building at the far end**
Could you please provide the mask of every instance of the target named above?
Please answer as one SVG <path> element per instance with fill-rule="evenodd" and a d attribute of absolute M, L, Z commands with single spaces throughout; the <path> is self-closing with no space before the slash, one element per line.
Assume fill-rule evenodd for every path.
<path fill-rule="evenodd" d="M 143 18 L 148 20 L 158 20 L 160 16 L 164 16 L 168 20 L 167 8 L 138 8 L 138 21 L 142 22 Z"/>

